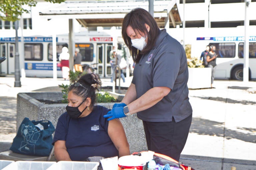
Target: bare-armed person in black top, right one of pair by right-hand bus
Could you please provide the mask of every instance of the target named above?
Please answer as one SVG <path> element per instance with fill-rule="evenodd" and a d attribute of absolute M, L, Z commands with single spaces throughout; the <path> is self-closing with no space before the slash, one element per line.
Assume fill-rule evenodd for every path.
<path fill-rule="evenodd" d="M 211 75 L 211 88 L 214 88 L 213 85 L 213 80 L 214 80 L 214 74 L 215 74 L 215 70 L 216 70 L 216 58 L 218 56 L 218 54 L 216 54 L 215 52 L 216 47 L 214 45 L 210 46 L 210 51 L 207 54 L 207 58 L 206 61 L 208 62 L 208 66 L 210 67 L 212 70 L 212 75 Z"/>

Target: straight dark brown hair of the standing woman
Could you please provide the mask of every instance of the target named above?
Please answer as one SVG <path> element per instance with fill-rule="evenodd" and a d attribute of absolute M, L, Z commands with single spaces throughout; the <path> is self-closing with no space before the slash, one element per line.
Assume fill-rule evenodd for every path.
<path fill-rule="evenodd" d="M 149 32 L 146 29 L 145 24 L 150 27 Z M 126 34 L 126 29 L 128 26 L 131 26 L 134 31 L 140 31 L 147 35 L 147 45 L 143 48 L 142 51 L 132 46 L 131 38 Z M 134 62 L 138 62 L 142 54 L 147 53 L 153 48 L 159 31 L 160 29 L 158 28 L 155 19 L 150 15 L 148 11 L 142 8 L 135 8 L 125 15 L 122 23 L 122 37 L 132 54 L 132 59 Z"/>

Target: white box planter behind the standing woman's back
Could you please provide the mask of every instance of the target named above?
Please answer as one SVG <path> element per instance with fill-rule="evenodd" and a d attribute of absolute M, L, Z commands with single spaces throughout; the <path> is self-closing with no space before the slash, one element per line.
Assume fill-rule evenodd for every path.
<path fill-rule="evenodd" d="M 211 87 L 211 68 L 188 68 L 188 75 L 189 89 Z"/>

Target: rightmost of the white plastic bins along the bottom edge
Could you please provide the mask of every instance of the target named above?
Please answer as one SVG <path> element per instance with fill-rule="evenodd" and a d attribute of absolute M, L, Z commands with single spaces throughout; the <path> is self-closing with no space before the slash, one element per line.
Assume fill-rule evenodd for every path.
<path fill-rule="evenodd" d="M 99 162 L 59 161 L 47 170 L 97 170 Z"/>

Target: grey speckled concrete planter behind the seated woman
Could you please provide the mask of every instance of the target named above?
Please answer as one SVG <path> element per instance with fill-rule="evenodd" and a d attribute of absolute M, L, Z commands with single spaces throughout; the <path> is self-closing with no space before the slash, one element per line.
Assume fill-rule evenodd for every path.
<path fill-rule="evenodd" d="M 49 120 L 56 127 L 59 116 L 66 112 L 67 104 L 44 104 L 41 100 L 57 101 L 62 99 L 61 92 L 30 92 L 18 93 L 17 95 L 17 129 L 22 120 L 27 117 L 30 120 Z M 120 98 L 119 98 L 120 100 Z M 114 103 L 98 103 L 106 108 L 111 109 Z M 121 118 L 120 121 L 125 129 L 127 140 L 130 144 L 130 151 L 140 152 L 147 150 L 145 133 L 142 121 L 137 118 L 136 114 Z"/>

